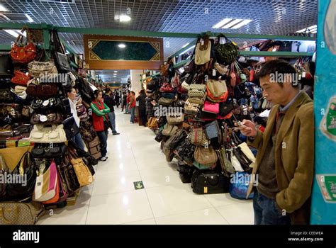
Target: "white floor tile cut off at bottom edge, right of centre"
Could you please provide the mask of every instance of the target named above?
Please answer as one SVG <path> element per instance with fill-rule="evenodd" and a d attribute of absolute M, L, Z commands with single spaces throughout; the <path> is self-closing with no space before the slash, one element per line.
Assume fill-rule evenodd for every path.
<path fill-rule="evenodd" d="M 157 225 L 228 225 L 215 208 L 155 218 Z"/>

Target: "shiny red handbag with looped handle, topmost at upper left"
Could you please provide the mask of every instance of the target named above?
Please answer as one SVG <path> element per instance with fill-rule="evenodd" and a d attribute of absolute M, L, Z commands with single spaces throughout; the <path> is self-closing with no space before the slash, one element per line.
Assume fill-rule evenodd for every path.
<path fill-rule="evenodd" d="M 30 61 L 33 61 L 37 54 L 35 44 L 31 41 L 32 36 L 30 30 L 27 27 L 23 27 L 21 33 L 23 33 L 25 30 L 27 33 L 26 45 L 23 45 L 23 35 L 18 35 L 16 42 L 11 48 L 12 60 L 21 64 L 26 64 Z"/>

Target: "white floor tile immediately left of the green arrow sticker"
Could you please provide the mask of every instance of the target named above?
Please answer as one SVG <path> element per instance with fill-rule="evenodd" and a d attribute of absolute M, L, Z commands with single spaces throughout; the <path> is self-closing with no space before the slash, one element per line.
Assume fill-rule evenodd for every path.
<path fill-rule="evenodd" d="M 135 190 L 134 181 L 141 181 L 138 171 L 128 171 L 123 174 L 99 174 L 94 182 L 92 196 Z"/>

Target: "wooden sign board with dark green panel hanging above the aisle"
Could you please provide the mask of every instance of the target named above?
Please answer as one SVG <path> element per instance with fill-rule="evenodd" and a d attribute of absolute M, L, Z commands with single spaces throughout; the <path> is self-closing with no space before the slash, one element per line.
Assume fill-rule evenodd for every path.
<path fill-rule="evenodd" d="M 84 35 L 86 64 L 90 69 L 159 69 L 163 39 Z"/>

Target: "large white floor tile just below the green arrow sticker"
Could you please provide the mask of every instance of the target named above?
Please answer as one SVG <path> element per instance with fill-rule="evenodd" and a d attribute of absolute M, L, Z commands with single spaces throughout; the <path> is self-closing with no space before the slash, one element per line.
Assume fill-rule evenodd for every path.
<path fill-rule="evenodd" d="M 92 196 L 86 224 L 123 224 L 153 218 L 143 189 Z"/>

